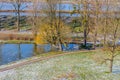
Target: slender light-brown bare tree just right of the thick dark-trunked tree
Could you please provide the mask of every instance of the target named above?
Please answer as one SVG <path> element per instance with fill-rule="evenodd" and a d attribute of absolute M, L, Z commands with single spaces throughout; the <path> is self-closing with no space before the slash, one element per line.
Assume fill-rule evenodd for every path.
<path fill-rule="evenodd" d="M 96 42 L 97 42 L 97 36 L 98 36 L 98 31 L 100 28 L 101 24 L 101 15 L 102 15 L 102 2 L 99 0 L 92 0 L 91 1 L 91 10 L 92 10 L 92 32 L 94 35 L 93 41 L 94 41 L 94 49 L 96 48 Z"/>

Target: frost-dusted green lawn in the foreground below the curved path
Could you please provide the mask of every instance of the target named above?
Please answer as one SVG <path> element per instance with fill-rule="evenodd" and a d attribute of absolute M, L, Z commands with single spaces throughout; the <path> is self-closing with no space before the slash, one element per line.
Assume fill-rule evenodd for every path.
<path fill-rule="evenodd" d="M 0 72 L 0 80 L 120 80 L 120 74 L 106 73 L 108 66 L 93 59 L 96 52 L 74 53 Z"/>

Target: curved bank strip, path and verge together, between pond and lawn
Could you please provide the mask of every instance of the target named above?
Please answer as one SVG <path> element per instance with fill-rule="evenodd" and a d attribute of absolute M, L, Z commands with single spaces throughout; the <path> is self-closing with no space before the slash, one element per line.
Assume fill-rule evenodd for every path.
<path fill-rule="evenodd" d="M 91 50 L 94 51 L 94 50 Z M 90 51 L 90 52 L 91 52 Z M 84 50 L 84 51 L 78 51 L 78 52 L 89 52 L 88 50 Z M 63 56 L 63 55 L 67 55 L 67 54 L 72 54 L 74 52 L 48 52 L 48 53 L 43 53 L 43 54 L 39 54 L 37 56 L 31 57 L 31 58 L 27 58 L 27 59 L 23 59 L 20 61 L 14 61 L 11 62 L 7 65 L 2 65 L 0 66 L 0 72 L 6 71 L 6 70 L 10 70 L 10 69 L 14 69 L 23 65 L 27 65 L 27 64 L 32 64 L 34 62 L 39 62 L 42 60 L 47 60 L 50 58 L 54 58 L 54 57 L 58 57 L 58 56 Z"/>

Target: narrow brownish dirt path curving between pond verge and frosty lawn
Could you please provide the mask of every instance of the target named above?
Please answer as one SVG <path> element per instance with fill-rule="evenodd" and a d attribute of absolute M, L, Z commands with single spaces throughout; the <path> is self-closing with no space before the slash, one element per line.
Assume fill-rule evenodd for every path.
<path fill-rule="evenodd" d="M 95 50 L 90 50 L 90 51 L 95 51 Z M 90 52 L 90 51 L 89 50 L 77 51 L 76 53 L 78 53 L 78 52 Z M 67 54 L 72 54 L 72 53 L 75 53 L 75 52 L 66 52 L 66 53 L 63 53 L 63 54 L 57 54 L 57 55 L 52 55 L 52 56 L 48 56 L 48 57 L 43 57 L 43 58 L 40 57 L 40 58 L 36 58 L 36 59 L 32 59 L 32 60 L 27 60 L 27 61 L 23 61 L 23 62 L 20 62 L 20 63 L 13 63 L 12 65 L 8 65 L 6 67 L 0 68 L 0 72 L 7 71 L 7 70 L 10 70 L 10 69 L 14 69 L 14 68 L 17 68 L 17 67 L 20 67 L 20 66 L 23 66 L 23 65 L 28 65 L 28 64 L 31 64 L 31 63 L 39 62 L 39 61 L 42 61 L 42 60 L 48 60 L 50 58 L 55 58 L 55 57 L 59 57 L 59 56 L 67 55 Z"/>

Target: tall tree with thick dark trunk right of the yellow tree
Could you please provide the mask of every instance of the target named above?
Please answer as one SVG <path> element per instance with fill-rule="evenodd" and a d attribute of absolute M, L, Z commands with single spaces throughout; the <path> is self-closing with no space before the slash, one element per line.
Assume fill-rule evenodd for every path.
<path fill-rule="evenodd" d="M 81 20 L 81 26 L 84 27 L 84 46 L 87 44 L 87 37 L 90 32 L 91 27 L 91 7 L 89 6 L 91 3 L 88 0 L 79 0 L 76 1 L 77 5 L 74 7 L 73 13 L 77 12 L 79 14 Z"/>

